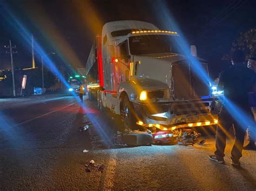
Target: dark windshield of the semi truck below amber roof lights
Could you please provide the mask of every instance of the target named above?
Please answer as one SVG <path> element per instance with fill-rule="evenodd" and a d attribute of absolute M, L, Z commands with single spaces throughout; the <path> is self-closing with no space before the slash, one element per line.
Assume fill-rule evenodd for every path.
<path fill-rule="evenodd" d="M 180 53 L 176 36 L 144 35 L 129 38 L 130 52 L 133 55 L 152 53 Z"/>

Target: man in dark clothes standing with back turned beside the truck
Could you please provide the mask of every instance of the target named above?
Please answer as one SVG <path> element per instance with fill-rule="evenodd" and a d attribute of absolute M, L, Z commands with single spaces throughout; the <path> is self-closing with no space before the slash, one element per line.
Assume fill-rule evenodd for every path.
<path fill-rule="evenodd" d="M 248 93 L 255 84 L 255 73 L 244 64 L 245 55 L 242 51 L 235 51 L 232 54 L 232 65 L 220 75 L 219 90 L 224 90 L 225 102 L 230 101 L 240 110 L 240 115 L 251 117 Z M 246 130 L 239 124 L 234 113 L 227 108 L 224 102 L 219 114 L 219 123 L 216 131 L 216 151 L 209 156 L 210 160 L 225 164 L 224 151 L 226 147 L 226 136 L 231 126 L 234 126 L 235 143 L 231 152 L 232 165 L 239 166 L 239 159 L 242 157 L 242 148 Z"/>

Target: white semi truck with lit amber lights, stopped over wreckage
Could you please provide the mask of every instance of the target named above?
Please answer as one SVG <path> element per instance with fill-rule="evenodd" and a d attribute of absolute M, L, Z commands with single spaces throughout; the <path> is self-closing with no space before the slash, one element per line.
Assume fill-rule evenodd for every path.
<path fill-rule="evenodd" d="M 109 22 L 97 36 L 86 63 L 89 98 L 120 115 L 124 130 L 174 130 L 218 123 L 220 103 L 210 82 L 192 69 L 178 46 L 179 34 L 136 20 Z M 208 76 L 207 62 L 196 57 Z"/>

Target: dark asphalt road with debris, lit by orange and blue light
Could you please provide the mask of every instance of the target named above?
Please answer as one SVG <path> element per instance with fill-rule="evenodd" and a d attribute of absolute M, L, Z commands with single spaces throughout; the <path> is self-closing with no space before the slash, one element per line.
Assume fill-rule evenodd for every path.
<path fill-rule="evenodd" d="M 20 99 L 0 105 L 0 190 L 256 189 L 256 151 L 244 151 L 241 167 L 234 168 L 232 138 L 226 165 L 208 159 L 214 137 L 205 145 L 117 148 L 111 137 L 119 118 L 99 112 L 95 103 L 86 100 L 82 109 L 72 96 Z M 79 132 L 87 122 L 90 128 Z M 103 172 L 85 171 L 92 159 Z"/>

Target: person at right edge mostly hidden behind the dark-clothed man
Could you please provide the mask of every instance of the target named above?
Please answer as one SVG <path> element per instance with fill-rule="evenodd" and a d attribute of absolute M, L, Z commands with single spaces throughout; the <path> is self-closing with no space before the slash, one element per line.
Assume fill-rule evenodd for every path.
<path fill-rule="evenodd" d="M 256 58 L 251 57 L 248 60 L 247 67 L 252 69 L 253 72 L 256 74 Z M 251 102 L 251 109 L 252 109 L 252 114 L 254 117 L 254 121 L 256 121 L 256 87 L 253 87 L 252 93 L 250 93 L 250 102 Z M 248 127 L 246 130 L 246 139 L 249 141 L 249 143 L 244 147 L 245 150 L 255 150 L 255 141 L 256 137 L 252 136 L 252 128 L 255 129 L 255 127 Z"/>

